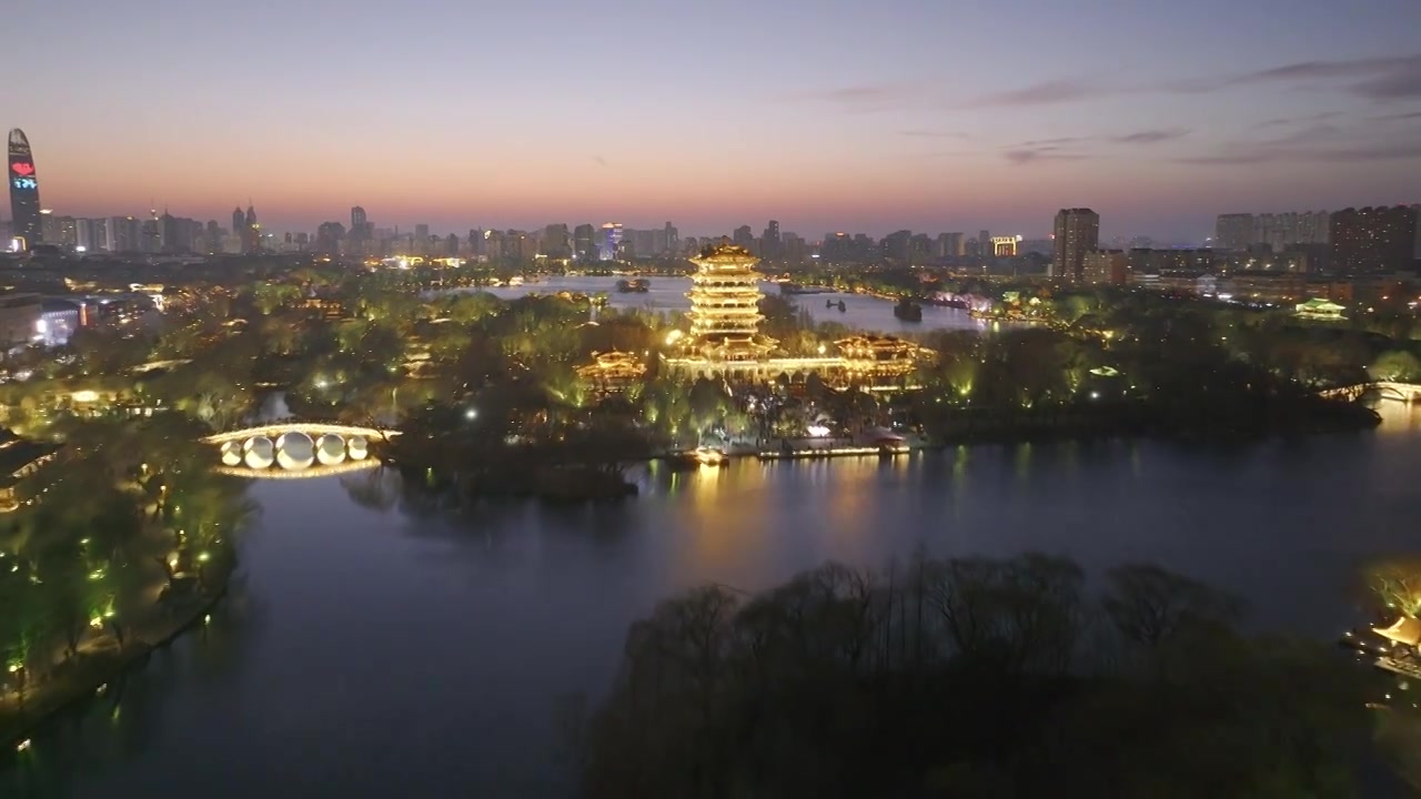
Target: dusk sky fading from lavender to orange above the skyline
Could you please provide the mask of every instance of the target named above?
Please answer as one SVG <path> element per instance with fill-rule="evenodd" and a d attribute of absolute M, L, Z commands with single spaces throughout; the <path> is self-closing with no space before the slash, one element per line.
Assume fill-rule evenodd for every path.
<path fill-rule="evenodd" d="M 72 216 L 1198 240 L 1421 202 L 1418 0 L 20 0 Z"/>

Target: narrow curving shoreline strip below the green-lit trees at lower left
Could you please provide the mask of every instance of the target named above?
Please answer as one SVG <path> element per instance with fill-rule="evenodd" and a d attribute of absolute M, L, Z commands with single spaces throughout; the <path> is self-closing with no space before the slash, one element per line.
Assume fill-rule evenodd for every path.
<path fill-rule="evenodd" d="M 134 637 L 126 647 L 112 653 L 112 655 L 108 653 L 94 655 L 90 663 L 80 664 L 75 674 L 51 678 L 50 682 L 34 691 L 13 718 L 13 724 L 9 724 L 11 719 L 0 721 L 0 763 L 23 755 L 23 751 L 17 751 L 18 746 L 60 714 L 78 707 L 85 699 L 95 698 L 107 685 L 146 664 L 155 651 L 166 648 L 193 627 L 202 624 L 203 618 L 226 599 L 229 577 L 230 574 L 223 576 L 213 591 L 195 597 L 190 607 L 178 611 L 169 624 L 158 628 L 152 641 L 145 637 Z M 108 638 L 112 640 L 112 636 Z M 85 670 L 88 665 L 92 668 Z M 51 688 L 57 682 L 60 685 Z M 9 728 L 3 726 L 6 724 Z"/>

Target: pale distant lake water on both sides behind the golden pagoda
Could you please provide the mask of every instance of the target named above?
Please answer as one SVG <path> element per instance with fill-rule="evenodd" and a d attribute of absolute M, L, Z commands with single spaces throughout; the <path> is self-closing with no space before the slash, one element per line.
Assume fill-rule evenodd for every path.
<path fill-rule="evenodd" d="M 503 299 L 522 297 L 531 291 L 556 294 L 557 291 L 578 291 L 595 294 L 605 291 L 608 304 L 614 309 L 638 309 L 657 313 L 681 313 L 691 309 L 686 291 L 691 290 L 689 277 L 648 277 L 648 291 L 622 294 L 617 291 L 618 277 L 550 277 L 541 283 L 527 283 L 517 287 L 490 289 L 489 293 Z M 779 294 L 777 283 L 762 283 L 760 289 L 766 294 Z M 924 330 L 988 330 L 990 323 L 972 318 L 962 309 L 948 309 L 942 306 L 924 306 L 922 321 L 902 321 L 892 316 L 894 303 L 870 297 L 865 294 L 796 294 L 787 300 L 807 310 L 814 321 L 834 321 L 855 330 L 871 330 L 877 333 L 918 333 Z M 824 307 L 833 300 L 836 307 Z M 837 304 L 844 301 L 844 310 Z"/>

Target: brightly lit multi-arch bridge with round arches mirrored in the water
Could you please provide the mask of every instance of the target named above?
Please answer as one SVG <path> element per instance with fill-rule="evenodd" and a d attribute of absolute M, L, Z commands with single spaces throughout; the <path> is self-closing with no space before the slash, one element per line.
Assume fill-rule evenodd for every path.
<path fill-rule="evenodd" d="M 372 441 L 388 441 L 395 429 L 323 422 L 274 422 L 209 435 L 220 472 L 247 478 L 317 478 L 367 469 Z"/>

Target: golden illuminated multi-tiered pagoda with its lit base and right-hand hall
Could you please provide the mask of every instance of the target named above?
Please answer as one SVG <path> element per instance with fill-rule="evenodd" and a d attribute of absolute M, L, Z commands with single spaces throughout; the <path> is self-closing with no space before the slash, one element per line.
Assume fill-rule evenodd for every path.
<path fill-rule="evenodd" d="M 762 334 L 759 259 L 745 247 L 718 245 L 691 259 L 691 333 L 664 357 L 664 371 L 682 380 L 801 382 L 818 374 L 830 385 L 901 388 L 932 353 L 891 336 L 837 341 L 843 355 L 777 357 L 779 343 Z"/>

